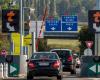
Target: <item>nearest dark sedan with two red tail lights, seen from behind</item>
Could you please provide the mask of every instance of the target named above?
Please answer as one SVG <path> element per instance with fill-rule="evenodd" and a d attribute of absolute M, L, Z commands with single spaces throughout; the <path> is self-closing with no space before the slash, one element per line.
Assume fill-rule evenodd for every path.
<path fill-rule="evenodd" d="M 54 52 L 35 52 L 26 60 L 28 63 L 27 80 L 36 76 L 56 76 L 62 80 L 62 63 Z"/>

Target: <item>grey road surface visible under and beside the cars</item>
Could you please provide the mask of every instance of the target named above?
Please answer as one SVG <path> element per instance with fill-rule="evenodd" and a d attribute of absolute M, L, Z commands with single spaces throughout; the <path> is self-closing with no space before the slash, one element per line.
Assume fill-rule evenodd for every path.
<path fill-rule="evenodd" d="M 79 72 L 80 72 L 80 69 L 77 69 L 76 75 L 71 75 L 70 72 L 63 72 L 62 80 L 100 80 L 100 78 L 79 78 Z M 26 79 L 9 78 L 9 79 L 3 79 L 3 80 L 26 80 Z M 34 80 L 56 80 L 56 77 L 35 77 Z"/>

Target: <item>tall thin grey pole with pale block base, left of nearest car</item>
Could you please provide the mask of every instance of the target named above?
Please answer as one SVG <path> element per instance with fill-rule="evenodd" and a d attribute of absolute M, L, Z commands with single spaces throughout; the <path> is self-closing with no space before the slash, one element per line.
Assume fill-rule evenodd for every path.
<path fill-rule="evenodd" d="M 23 53 L 23 5 L 22 5 L 22 0 L 20 0 L 20 74 L 19 76 L 23 76 L 27 73 L 26 59 L 27 59 L 27 55 L 24 55 Z"/>

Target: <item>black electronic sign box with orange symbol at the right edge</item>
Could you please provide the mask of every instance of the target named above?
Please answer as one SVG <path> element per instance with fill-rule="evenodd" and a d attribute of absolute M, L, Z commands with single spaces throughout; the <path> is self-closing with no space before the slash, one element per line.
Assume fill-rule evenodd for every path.
<path fill-rule="evenodd" d="M 100 10 L 90 10 L 88 12 L 89 30 L 95 34 L 100 32 Z"/>

